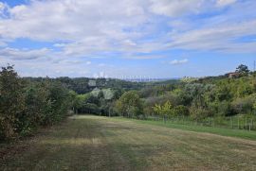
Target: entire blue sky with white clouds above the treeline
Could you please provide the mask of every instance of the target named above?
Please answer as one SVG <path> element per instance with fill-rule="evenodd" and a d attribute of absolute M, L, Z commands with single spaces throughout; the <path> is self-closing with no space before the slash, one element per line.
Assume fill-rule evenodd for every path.
<path fill-rule="evenodd" d="M 205 77 L 256 60 L 255 0 L 0 0 L 21 77 Z"/>

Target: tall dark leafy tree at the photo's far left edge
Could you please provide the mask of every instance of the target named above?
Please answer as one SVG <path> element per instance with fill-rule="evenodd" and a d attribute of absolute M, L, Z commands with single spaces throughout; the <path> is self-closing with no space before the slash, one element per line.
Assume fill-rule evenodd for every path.
<path fill-rule="evenodd" d="M 24 84 L 13 66 L 0 71 L 0 139 L 11 138 L 17 132 L 16 116 L 25 110 Z"/>

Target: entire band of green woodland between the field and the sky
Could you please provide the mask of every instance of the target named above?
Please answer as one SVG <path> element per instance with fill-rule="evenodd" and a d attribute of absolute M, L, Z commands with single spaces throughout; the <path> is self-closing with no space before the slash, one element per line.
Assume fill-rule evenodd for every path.
<path fill-rule="evenodd" d="M 231 77 L 230 77 L 231 76 Z M 183 77 L 161 82 L 111 78 L 19 77 L 0 72 L 0 140 L 32 134 L 73 113 L 190 117 L 194 120 L 256 115 L 256 73 L 241 64 L 219 77 Z"/>

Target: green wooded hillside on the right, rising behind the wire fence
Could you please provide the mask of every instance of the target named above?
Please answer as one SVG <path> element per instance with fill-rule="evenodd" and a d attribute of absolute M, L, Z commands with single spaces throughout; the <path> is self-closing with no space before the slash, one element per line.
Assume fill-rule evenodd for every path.
<path fill-rule="evenodd" d="M 117 83 L 114 89 L 108 89 L 115 93 L 115 87 L 119 87 L 115 97 L 106 100 L 102 95 L 95 95 L 94 90 L 83 94 L 87 97 L 80 98 L 83 104 L 80 107 L 83 111 L 93 108 L 97 114 L 137 117 L 157 114 L 190 116 L 198 120 L 212 116 L 253 116 L 256 112 L 255 76 L 246 65 L 240 65 L 234 73 L 225 76 L 185 77 L 180 81 L 158 82 L 155 86 L 137 83 L 139 86 L 132 90 L 122 89 Z M 101 88 L 98 92 L 104 90 Z"/>

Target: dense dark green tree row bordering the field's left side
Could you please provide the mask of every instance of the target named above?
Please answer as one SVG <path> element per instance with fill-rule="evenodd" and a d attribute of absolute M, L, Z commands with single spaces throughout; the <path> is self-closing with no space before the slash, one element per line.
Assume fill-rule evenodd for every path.
<path fill-rule="evenodd" d="M 27 81 L 12 66 L 0 71 L 0 140 L 32 133 L 61 121 L 72 101 L 58 81 Z"/>

